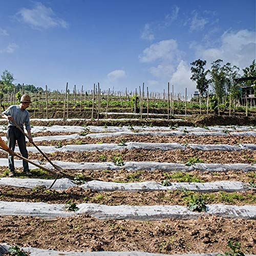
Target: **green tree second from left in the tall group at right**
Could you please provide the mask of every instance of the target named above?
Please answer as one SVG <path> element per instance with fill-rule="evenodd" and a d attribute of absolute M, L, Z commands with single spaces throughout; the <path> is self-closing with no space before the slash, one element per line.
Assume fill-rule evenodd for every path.
<path fill-rule="evenodd" d="M 222 59 L 217 59 L 214 62 L 211 62 L 211 70 L 208 71 L 210 74 L 210 82 L 212 88 L 214 89 L 217 98 L 221 99 L 225 94 L 225 83 L 226 76 L 224 68 L 221 67 Z"/>

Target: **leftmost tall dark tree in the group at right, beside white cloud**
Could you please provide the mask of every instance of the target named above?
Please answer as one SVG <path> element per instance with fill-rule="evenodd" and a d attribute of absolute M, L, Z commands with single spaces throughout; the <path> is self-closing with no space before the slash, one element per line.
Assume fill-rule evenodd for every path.
<path fill-rule="evenodd" d="M 190 79 L 197 82 L 197 89 L 202 94 L 206 94 L 209 86 L 208 80 L 206 79 L 207 72 L 204 69 L 204 66 L 206 65 L 206 60 L 197 59 L 194 62 L 190 63 L 190 65 L 194 66 L 190 69 L 193 73 Z"/>

